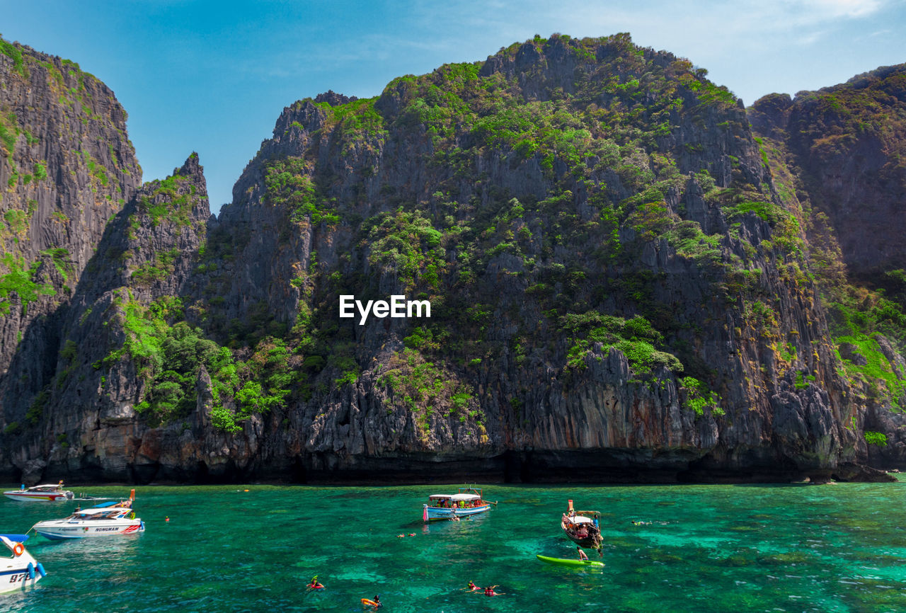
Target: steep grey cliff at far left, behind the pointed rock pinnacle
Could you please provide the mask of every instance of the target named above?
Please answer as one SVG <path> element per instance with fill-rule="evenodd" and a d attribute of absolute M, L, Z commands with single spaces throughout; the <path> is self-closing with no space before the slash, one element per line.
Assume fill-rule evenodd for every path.
<path fill-rule="evenodd" d="M 0 40 L 0 407 L 11 432 L 54 376 L 63 313 L 140 184 L 126 111 L 79 64 Z"/>

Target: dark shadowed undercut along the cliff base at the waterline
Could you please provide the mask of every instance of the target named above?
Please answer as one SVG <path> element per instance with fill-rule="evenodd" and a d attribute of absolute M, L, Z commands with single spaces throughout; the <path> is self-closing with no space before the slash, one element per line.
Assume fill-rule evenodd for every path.
<path fill-rule="evenodd" d="M 787 457 L 729 463 L 706 455 L 632 455 L 626 449 L 506 451 L 489 457 L 441 458 L 429 453 L 384 457 L 297 455 L 292 462 L 229 459 L 218 465 L 199 461 L 192 469 L 160 465 L 110 467 L 83 465 L 78 471 L 48 466 L 44 481 L 64 479 L 86 484 L 783 484 L 809 481 L 890 481 L 882 471 L 843 463 L 834 469 L 798 466 Z M 638 450 L 642 452 L 643 450 Z M 19 482 L 23 475 L 9 479 Z M 26 480 L 27 481 L 27 480 Z M 30 483 L 30 482 L 29 482 Z"/>

